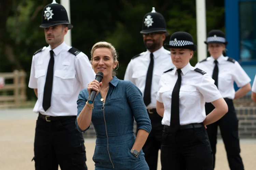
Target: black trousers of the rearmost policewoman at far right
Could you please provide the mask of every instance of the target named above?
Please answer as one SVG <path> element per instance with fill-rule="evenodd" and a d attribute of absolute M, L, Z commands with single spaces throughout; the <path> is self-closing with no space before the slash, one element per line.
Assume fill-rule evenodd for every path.
<path fill-rule="evenodd" d="M 231 170 L 243 170 L 243 162 L 240 156 L 240 144 L 238 137 L 238 119 L 236 110 L 231 99 L 225 98 L 228 105 L 226 113 L 217 122 L 207 125 L 207 132 L 213 152 L 213 168 L 215 166 L 215 154 L 217 143 L 217 129 L 221 131 L 221 136 L 225 145 L 228 157 L 228 164 Z M 211 103 L 205 103 L 205 112 L 208 115 L 215 107 Z"/>

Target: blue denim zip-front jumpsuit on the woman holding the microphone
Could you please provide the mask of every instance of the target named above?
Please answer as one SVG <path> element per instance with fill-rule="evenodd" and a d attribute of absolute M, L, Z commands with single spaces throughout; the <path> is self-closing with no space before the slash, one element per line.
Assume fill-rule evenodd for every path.
<path fill-rule="evenodd" d="M 87 89 L 83 89 L 77 100 L 77 117 L 88 100 Z M 101 107 L 100 93 L 94 100 L 91 121 L 96 131 L 96 146 L 93 156 L 95 170 L 149 170 L 141 150 L 138 157 L 130 150 L 136 139 L 133 133 L 134 118 L 138 128 L 150 133 L 151 121 L 143 102 L 141 91 L 130 81 L 116 77 L 109 83 L 109 91 L 104 100 L 104 111 Z M 82 131 L 76 120 L 76 127 Z"/>

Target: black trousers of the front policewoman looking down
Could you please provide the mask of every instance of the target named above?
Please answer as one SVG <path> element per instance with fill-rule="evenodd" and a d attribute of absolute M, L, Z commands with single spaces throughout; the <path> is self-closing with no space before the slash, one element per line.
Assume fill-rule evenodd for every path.
<path fill-rule="evenodd" d="M 162 170 L 212 170 L 212 151 L 207 131 L 201 128 L 172 132 L 164 128 L 161 145 Z"/>

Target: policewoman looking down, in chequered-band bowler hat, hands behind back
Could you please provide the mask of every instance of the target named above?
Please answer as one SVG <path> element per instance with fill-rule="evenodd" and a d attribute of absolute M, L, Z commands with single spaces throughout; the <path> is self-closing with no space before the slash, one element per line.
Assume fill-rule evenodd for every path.
<path fill-rule="evenodd" d="M 163 117 L 161 146 L 162 170 L 212 170 L 212 153 L 205 125 L 220 119 L 228 111 L 227 104 L 204 71 L 192 67 L 196 45 L 186 32 L 170 37 L 174 68 L 165 71 L 159 82 L 157 113 Z M 216 107 L 205 116 L 204 104 Z"/>

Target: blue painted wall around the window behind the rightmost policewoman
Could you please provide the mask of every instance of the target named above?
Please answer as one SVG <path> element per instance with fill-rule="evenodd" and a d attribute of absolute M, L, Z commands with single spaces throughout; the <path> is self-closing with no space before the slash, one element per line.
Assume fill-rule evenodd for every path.
<path fill-rule="evenodd" d="M 241 1 L 248 0 L 225 0 L 225 27 L 226 39 L 228 41 L 228 45 L 226 47 L 228 49 L 227 56 L 232 57 L 237 61 L 240 60 L 239 3 Z M 256 73 L 256 61 L 239 63 L 251 78 L 252 84 Z M 238 89 L 236 85 L 235 88 L 236 90 Z"/>

